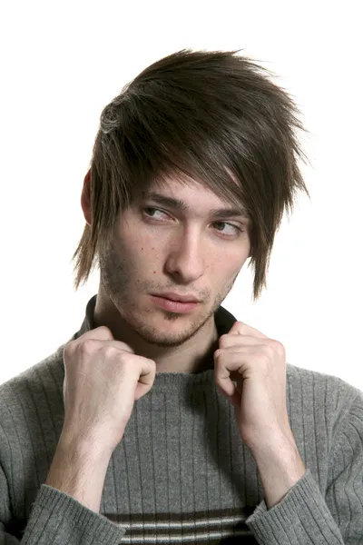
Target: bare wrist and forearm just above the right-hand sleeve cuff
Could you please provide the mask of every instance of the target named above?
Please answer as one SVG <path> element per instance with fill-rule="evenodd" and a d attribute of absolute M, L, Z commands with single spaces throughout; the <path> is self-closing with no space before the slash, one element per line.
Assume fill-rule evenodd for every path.
<path fill-rule="evenodd" d="M 252 453 L 265 492 L 266 505 L 270 509 L 299 481 L 306 467 L 292 435 L 263 441 Z"/>

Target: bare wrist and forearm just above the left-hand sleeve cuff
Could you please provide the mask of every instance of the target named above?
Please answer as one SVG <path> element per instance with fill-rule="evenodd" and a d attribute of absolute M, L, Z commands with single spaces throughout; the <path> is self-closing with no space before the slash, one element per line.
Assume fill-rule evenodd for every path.
<path fill-rule="evenodd" d="M 44 484 L 65 492 L 98 513 L 112 453 L 101 451 L 95 445 L 95 441 L 73 441 L 61 436 Z"/>

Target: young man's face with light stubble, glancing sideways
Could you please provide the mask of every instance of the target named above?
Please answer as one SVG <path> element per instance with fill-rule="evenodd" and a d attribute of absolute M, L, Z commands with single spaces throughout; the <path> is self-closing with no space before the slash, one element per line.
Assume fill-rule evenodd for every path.
<path fill-rule="evenodd" d="M 146 342 L 179 346 L 209 320 L 231 291 L 250 255 L 248 220 L 211 211 L 236 208 L 199 183 L 171 180 L 150 192 L 178 199 L 172 203 L 146 197 L 120 215 L 113 245 L 100 255 L 103 296 Z M 239 230 L 240 229 L 240 230 Z M 157 295 L 191 295 L 191 308 L 172 308 Z"/>

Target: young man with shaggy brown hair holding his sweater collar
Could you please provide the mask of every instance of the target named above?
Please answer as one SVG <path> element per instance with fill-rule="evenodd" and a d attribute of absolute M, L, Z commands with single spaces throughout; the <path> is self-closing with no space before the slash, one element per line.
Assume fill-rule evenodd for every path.
<path fill-rule="evenodd" d="M 363 395 L 221 306 L 266 283 L 296 106 L 237 52 L 183 50 L 101 117 L 54 354 L 1 386 L 0 543 L 361 543 Z M 309 193 L 308 193 L 309 194 Z"/>

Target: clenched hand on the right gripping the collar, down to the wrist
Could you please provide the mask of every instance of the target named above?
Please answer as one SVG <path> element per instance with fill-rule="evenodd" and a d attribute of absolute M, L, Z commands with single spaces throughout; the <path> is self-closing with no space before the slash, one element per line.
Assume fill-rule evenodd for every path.
<path fill-rule="evenodd" d="M 254 448 L 273 437 L 290 437 L 284 346 L 243 322 L 221 335 L 219 346 L 214 380 L 234 406 L 242 440 Z"/>

